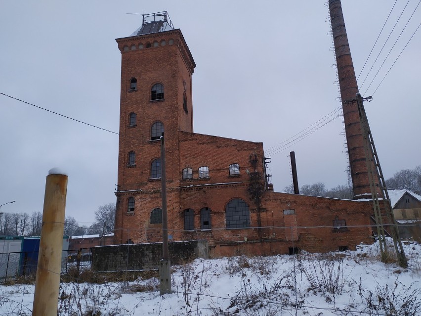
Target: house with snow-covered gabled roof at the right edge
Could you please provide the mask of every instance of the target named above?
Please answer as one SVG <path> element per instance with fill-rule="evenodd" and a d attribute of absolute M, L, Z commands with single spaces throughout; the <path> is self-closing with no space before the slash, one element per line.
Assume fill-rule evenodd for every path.
<path fill-rule="evenodd" d="M 388 190 L 401 238 L 421 242 L 421 195 L 408 190 Z"/>

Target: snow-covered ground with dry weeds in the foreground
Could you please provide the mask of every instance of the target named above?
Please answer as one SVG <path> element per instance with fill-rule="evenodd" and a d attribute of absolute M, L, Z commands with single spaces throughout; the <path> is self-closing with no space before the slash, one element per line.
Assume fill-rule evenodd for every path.
<path fill-rule="evenodd" d="M 393 249 L 390 249 L 393 252 Z M 158 280 L 62 283 L 59 315 L 421 315 L 421 246 L 408 269 L 379 262 L 378 243 L 357 251 L 197 259 Z M 34 285 L 0 286 L 0 315 L 31 315 Z"/>

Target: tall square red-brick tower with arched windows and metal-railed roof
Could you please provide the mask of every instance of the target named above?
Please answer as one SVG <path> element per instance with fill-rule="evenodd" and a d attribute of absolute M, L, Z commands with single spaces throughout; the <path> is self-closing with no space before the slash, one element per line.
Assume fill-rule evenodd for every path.
<path fill-rule="evenodd" d="M 179 186 L 178 132 L 193 132 L 191 76 L 196 64 L 166 11 L 143 15 L 139 29 L 116 41 L 122 76 L 115 242 L 126 243 L 144 240 L 147 228 L 140 219 L 148 218 L 150 210 L 156 209 L 159 217 L 159 137 L 164 131 L 169 189 Z M 177 199 L 168 192 L 168 207 Z M 153 235 L 153 229 L 148 233 Z"/>

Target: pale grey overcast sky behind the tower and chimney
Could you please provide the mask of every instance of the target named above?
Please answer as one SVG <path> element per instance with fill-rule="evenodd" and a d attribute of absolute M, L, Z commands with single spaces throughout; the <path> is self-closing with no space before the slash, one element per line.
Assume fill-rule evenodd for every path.
<path fill-rule="evenodd" d="M 421 21 L 410 0 L 361 87 L 406 0 L 398 0 L 358 80 L 372 95 Z M 360 73 L 393 0 L 343 0 L 355 70 Z M 339 105 L 328 8 L 316 1 L 5 1 L 0 0 L 0 92 L 118 132 L 121 54 L 141 15 L 167 10 L 197 64 L 194 132 L 263 142 L 275 191 L 291 184 L 295 151 L 300 185 L 347 182 L 341 118 L 289 148 L 269 149 Z M 421 164 L 419 30 L 366 111 L 385 178 Z M 366 92 L 366 93 L 365 93 Z M 66 215 L 89 226 L 98 206 L 115 202 L 118 135 L 0 95 L 1 212 L 42 211 L 52 167 L 69 174 Z M 292 143 L 291 143 L 292 144 Z M 276 152 L 276 151 L 275 151 Z"/>

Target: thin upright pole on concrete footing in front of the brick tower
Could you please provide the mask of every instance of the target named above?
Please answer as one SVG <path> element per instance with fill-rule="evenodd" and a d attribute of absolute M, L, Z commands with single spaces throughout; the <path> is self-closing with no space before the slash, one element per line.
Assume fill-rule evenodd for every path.
<path fill-rule="evenodd" d="M 165 170 L 165 140 L 161 136 L 161 196 L 162 196 L 162 260 L 159 262 L 160 295 L 171 293 L 171 264 L 168 258 L 167 175 Z"/>

